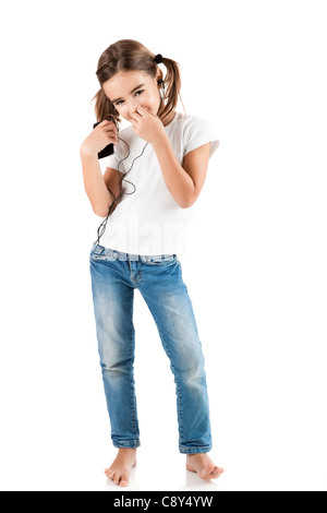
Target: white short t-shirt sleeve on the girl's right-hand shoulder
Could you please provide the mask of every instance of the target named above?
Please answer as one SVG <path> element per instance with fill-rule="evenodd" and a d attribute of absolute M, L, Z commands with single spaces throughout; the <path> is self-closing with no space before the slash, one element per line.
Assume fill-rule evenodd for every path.
<path fill-rule="evenodd" d="M 220 142 L 213 126 L 204 118 L 193 116 L 184 130 L 184 156 L 204 144 L 211 142 L 210 156 L 214 155 Z"/>

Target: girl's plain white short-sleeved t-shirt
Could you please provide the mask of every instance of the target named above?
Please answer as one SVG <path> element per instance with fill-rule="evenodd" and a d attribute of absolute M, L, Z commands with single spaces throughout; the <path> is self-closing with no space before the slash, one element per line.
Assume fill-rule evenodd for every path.
<path fill-rule="evenodd" d="M 174 118 L 165 130 L 181 165 L 184 156 L 198 146 L 211 142 L 210 157 L 219 146 L 213 127 L 207 120 L 196 116 L 175 111 Z M 121 130 L 119 136 L 130 148 L 118 140 L 114 153 L 106 157 L 106 164 L 107 167 L 125 174 L 135 157 L 142 154 L 147 141 L 137 136 L 132 126 Z M 119 165 L 122 159 L 124 160 Z M 109 216 L 99 243 L 131 254 L 184 254 L 193 208 L 181 208 L 171 195 L 150 143 L 140 158 L 134 160 L 122 187 L 125 193 Z"/>

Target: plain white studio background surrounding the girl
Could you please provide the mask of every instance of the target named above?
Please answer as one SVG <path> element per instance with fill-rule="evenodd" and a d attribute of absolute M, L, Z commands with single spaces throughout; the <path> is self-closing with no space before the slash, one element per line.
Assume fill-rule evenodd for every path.
<path fill-rule="evenodd" d="M 78 150 L 98 58 L 124 38 L 180 63 L 186 112 L 220 140 L 181 262 L 226 468 L 186 473 L 136 291 L 142 446 L 125 490 L 327 490 L 325 3 L 1 2 L 1 490 L 117 491 L 88 270 L 102 219 Z"/>

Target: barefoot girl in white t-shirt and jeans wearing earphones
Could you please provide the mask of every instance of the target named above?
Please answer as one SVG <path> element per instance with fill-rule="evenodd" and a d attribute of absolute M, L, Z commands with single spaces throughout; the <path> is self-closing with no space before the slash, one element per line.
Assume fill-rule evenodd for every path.
<path fill-rule="evenodd" d="M 202 343 L 178 253 L 184 252 L 191 206 L 219 141 L 206 120 L 175 111 L 181 79 L 172 59 L 123 39 L 102 52 L 96 74 L 98 124 L 83 142 L 81 158 L 93 210 L 106 217 L 89 254 L 111 439 L 119 449 L 105 473 L 128 486 L 141 444 L 133 373 L 136 288 L 174 374 L 179 451 L 186 454 L 189 470 L 217 478 L 223 468 L 207 454 L 213 442 Z M 119 132 L 120 117 L 131 126 Z M 99 153 L 109 144 L 114 151 L 102 175 Z"/>

